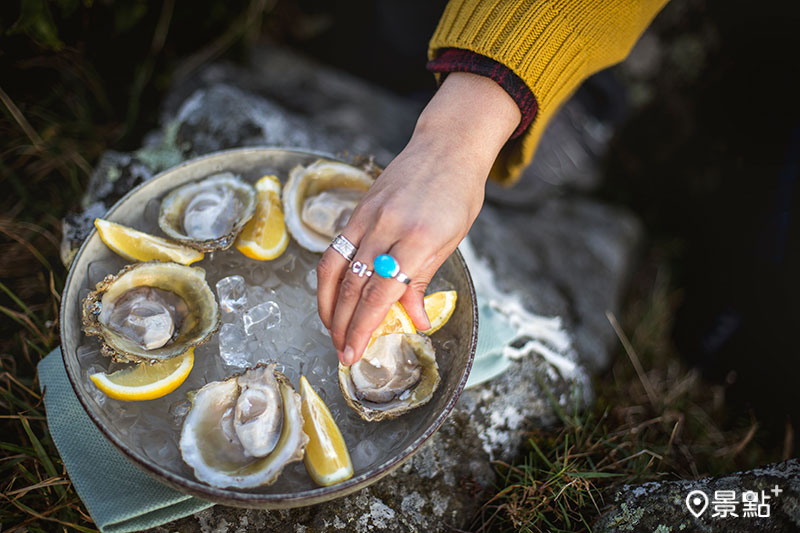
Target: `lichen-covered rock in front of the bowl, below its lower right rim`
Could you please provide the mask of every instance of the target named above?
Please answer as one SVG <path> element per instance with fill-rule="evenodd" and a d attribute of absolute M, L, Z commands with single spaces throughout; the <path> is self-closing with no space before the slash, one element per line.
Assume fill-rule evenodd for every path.
<path fill-rule="evenodd" d="M 500 378 L 466 391 L 439 431 L 409 461 L 354 495 L 280 511 L 215 506 L 150 531 L 444 532 L 469 528 L 495 481 L 490 461 L 512 460 L 530 427 L 555 421 L 548 393 L 567 408 L 576 400 L 583 401 L 574 396 L 581 392 L 576 382 L 551 372 L 538 356 L 525 358 Z"/>

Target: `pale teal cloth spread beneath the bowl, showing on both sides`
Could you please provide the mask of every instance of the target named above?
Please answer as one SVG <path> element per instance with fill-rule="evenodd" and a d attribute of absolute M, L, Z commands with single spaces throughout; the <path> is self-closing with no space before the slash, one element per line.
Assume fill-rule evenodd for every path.
<path fill-rule="evenodd" d="M 533 349 L 569 373 L 571 342 L 557 318 L 526 312 L 518 299 L 495 287 L 491 271 L 462 243 L 478 293 L 478 346 L 468 387 L 505 372 L 513 358 Z M 512 343 L 524 340 L 524 346 Z M 50 434 L 75 490 L 103 532 L 155 527 L 214 505 L 178 492 L 139 470 L 97 429 L 67 378 L 60 350 L 38 366 Z"/>

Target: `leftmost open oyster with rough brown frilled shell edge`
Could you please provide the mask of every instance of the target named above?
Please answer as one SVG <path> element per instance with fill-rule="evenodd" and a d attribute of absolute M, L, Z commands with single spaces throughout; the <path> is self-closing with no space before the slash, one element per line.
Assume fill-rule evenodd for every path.
<path fill-rule="evenodd" d="M 219 306 L 202 268 L 150 261 L 128 265 L 97 284 L 83 300 L 87 335 L 120 362 L 155 362 L 208 340 Z"/>

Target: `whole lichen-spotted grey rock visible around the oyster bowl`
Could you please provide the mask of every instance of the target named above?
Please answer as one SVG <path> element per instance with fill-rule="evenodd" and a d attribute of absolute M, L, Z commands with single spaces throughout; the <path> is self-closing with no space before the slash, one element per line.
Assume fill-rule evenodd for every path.
<path fill-rule="evenodd" d="M 271 145 L 368 153 L 385 164 L 410 135 L 419 111 L 415 104 L 285 51 L 263 48 L 255 54 L 253 68 L 212 66 L 176 88 L 165 104 L 161 131 L 135 153 L 109 153 L 103 159 L 84 203 L 91 208 L 69 220 L 65 255 L 88 233 L 98 211 L 181 160 L 235 146 Z M 561 149 L 575 156 L 572 183 L 588 183 L 593 156 L 590 151 L 576 156 L 587 142 L 586 132 L 576 126 L 571 126 L 574 142 Z M 548 150 L 544 146 L 540 154 L 550 161 L 542 168 L 566 176 L 564 166 L 552 164 L 564 152 Z M 629 215 L 579 197 L 545 202 L 548 195 L 537 196 L 534 189 L 527 198 L 542 199 L 534 202 L 536 208 L 514 210 L 501 197 L 495 199 L 506 207 L 487 204 L 472 242 L 495 269 L 501 288 L 523 294 L 533 313 L 565 319 L 577 348 L 577 372 L 565 378 L 535 354 L 515 361 L 505 375 L 465 392 L 441 430 L 405 465 L 348 498 L 288 511 L 216 506 L 153 531 L 469 527 L 495 481 L 491 461 L 513 459 L 526 430 L 555 421 L 548 392 L 565 406 L 573 404 L 575 394 L 581 400 L 591 396 L 584 388 L 585 369 L 608 362 L 612 333 L 604 312 L 619 306 L 640 238 Z"/>

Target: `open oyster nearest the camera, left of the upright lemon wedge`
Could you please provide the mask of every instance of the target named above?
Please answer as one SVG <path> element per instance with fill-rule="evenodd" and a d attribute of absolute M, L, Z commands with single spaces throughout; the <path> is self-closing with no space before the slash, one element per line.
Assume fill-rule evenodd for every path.
<path fill-rule="evenodd" d="M 275 363 L 208 383 L 184 420 L 181 456 L 197 479 L 215 487 L 273 483 L 305 453 L 300 406 L 300 395 Z"/>

